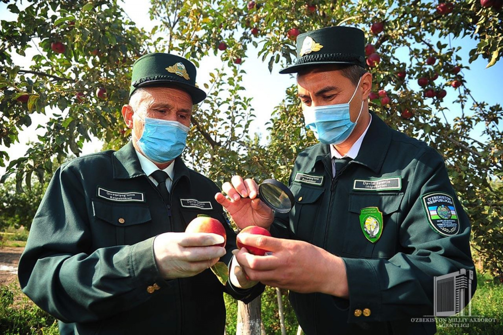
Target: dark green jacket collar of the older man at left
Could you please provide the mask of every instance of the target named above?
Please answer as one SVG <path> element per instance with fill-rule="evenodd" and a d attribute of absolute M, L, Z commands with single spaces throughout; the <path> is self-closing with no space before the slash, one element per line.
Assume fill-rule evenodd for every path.
<path fill-rule="evenodd" d="M 140 161 L 136 155 L 136 149 L 131 141 L 124 147 L 112 154 L 112 166 L 114 171 L 114 179 L 131 179 L 138 176 L 144 176 Z M 186 177 L 190 182 L 189 168 L 179 157 L 175 159 L 175 183 L 178 179 Z"/>

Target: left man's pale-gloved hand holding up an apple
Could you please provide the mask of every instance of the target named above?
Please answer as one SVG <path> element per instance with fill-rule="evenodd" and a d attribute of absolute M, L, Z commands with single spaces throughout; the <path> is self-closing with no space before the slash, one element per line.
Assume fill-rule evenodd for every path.
<path fill-rule="evenodd" d="M 163 233 L 154 239 L 154 256 L 164 279 L 195 276 L 225 255 L 222 236 L 206 233 Z"/>

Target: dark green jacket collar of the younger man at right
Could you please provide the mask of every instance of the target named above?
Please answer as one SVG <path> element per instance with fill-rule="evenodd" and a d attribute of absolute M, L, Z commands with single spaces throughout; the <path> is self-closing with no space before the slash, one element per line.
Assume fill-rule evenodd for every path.
<path fill-rule="evenodd" d="M 360 151 L 353 161 L 378 173 L 381 170 L 384 158 L 386 157 L 391 143 L 392 130 L 374 112 L 370 113 L 372 115 L 372 121 L 363 138 Z M 312 170 L 315 169 L 317 164 L 323 164 L 326 171 L 331 171 L 330 146 L 325 144 L 318 144 L 317 146 L 319 147 L 315 151 L 316 159 L 313 163 Z"/>

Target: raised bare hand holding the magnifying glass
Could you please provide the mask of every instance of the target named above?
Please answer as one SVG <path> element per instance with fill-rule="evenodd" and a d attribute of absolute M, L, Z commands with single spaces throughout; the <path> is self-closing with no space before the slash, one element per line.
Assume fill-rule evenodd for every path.
<path fill-rule="evenodd" d="M 227 209 L 240 229 L 247 226 L 269 229 L 274 220 L 274 213 L 257 197 L 259 186 L 255 180 L 243 181 L 240 176 L 233 176 L 231 182 L 225 182 L 222 185 L 222 190 L 227 193 L 230 200 L 222 193 L 217 193 L 215 194 L 217 202 Z"/>

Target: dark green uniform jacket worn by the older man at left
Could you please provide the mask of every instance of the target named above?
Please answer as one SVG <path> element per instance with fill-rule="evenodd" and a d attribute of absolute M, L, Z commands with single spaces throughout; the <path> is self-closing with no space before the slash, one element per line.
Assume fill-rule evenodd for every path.
<path fill-rule="evenodd" d="M 19 262 L 23 292 L 63 321 L 63 334 L 223 334 L 222 293 L 248 302 L 263 285 L 224 287 L 210 270 L 165 281 L 153 254 L 156 235 L 183 232 L 198 215 L 209 215 L 226 227 L 228 263 L 235 234 L 214 199 L 218 191 L 177 158 L 166 206 L 131 143 L 64 164 Z"/>

